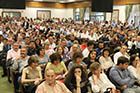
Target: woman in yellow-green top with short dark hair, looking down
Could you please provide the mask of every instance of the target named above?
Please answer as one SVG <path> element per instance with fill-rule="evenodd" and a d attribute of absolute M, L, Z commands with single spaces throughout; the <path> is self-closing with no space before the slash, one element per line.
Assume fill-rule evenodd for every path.
<path fill-rule="evenodd" d="M 51 62 L 47 64 L 46 69 L 53 69 L 56 74 L 56 79 L 63 79 L 67 74 L 68 70 L 64 62 L 62 61 L 60 54 L 53 53 L 50 56 L 50 60 Z"/>

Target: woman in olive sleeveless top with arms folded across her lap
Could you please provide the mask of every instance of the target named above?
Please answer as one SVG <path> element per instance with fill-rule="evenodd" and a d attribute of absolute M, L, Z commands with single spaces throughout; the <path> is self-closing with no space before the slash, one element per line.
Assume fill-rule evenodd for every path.
<path fill-rule="evenodd" d="M 37 56 L 32 55 L 28 60 L 28 66 L 23 69 L 21 83 L 25 87 L 25 93 L 32 93 L 42 80 L 41 68 L 38 67 Z"/>

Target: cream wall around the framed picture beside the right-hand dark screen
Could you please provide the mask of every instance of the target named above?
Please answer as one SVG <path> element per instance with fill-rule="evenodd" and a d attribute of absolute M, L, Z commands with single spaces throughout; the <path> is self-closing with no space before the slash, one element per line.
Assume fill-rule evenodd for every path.
<path fill-rule="evenodd" d="M 119 20 L 125 22 L 125 7 L 126 5 L 116 5 L 113 6 L 113 9 L 119 10 Z M 111 13 L 106 13 L 106 20 L 111 20 Z"/>

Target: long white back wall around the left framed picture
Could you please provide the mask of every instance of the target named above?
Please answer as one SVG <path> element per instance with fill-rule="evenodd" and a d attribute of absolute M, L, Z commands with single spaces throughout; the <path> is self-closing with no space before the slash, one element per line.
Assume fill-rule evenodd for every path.
<path fill-rule="evenodd" d="M 37 10 L 50 10 L 51 17 L 58 17 L 58 18 L 73 18 L 73 9 L 68 8 L 33 8 L 33 7 L 26 7 L 25 10 L 13 10 L 13 9 L 0 9 L 0 16 L 2 16 L 2 11 L 20 11 L 22 16 L 26 16 L 28 18 L 36 18 L 37 17 Z"/>

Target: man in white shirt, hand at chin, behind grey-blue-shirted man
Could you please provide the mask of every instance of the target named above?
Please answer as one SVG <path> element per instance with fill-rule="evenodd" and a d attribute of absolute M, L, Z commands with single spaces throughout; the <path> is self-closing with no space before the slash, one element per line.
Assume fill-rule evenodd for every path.
<path fill-rule="evenodd" d="M 118 58 L 120 56 L 124 56 L 128 59 L 130 58 L 129 54 L 127 53 L 127 46 L 126 45 L 122 45 L 120 51 L 114 54 L 114 63 L 115 64 L 117 64 Z"/>

